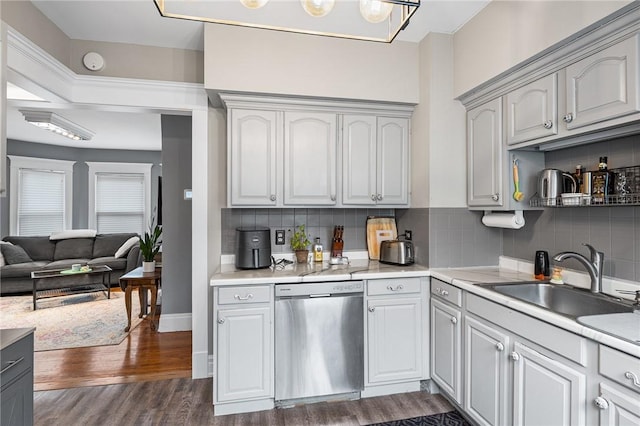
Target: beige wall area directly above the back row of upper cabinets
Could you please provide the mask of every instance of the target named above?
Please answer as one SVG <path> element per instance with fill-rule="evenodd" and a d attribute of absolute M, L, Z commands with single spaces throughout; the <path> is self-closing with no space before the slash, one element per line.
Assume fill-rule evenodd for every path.
<path fill-rule="evenodd" d="M 418 102 L 418 44 L 205 25 L 213 90 Z"/>

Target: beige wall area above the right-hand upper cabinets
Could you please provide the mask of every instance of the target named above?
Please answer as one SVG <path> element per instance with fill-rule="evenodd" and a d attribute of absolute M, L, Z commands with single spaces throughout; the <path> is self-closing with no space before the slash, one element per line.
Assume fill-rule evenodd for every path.
<path fill-rule="evenodd" d="M 454 94 L 471 90 L 628 3 L 492 1 L 455 33 Z"/>

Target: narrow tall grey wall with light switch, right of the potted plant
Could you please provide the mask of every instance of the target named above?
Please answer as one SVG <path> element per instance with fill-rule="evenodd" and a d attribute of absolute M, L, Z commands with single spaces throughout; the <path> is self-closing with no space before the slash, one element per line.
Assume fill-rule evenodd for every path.
<path fill-rule="evenodd" d="M 191 312 L 191 117 L 162 116 L 162 313 Z"/>

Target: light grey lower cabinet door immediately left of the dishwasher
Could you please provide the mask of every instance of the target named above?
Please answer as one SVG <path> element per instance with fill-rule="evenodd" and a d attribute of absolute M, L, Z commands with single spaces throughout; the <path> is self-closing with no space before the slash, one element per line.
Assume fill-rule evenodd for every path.
<path fill-rule="evenodd" d="M 218 311 L 218 402 L 273 396 L 271 310 Z"/>

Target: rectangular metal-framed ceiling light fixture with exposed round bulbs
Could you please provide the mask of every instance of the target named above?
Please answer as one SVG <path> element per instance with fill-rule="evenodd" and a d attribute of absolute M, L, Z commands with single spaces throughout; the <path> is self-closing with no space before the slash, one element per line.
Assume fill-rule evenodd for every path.
<path fill-rule="evenodd" d="M 166 18 L 385 43 L 420 7 L 420 0 L 153 1 Z"/>

